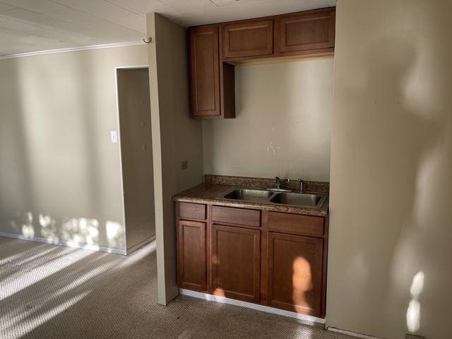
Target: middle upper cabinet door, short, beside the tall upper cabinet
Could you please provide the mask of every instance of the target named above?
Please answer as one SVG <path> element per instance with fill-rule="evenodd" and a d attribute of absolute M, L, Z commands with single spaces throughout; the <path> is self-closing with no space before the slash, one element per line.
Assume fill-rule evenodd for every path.
<path fill-rule="evenodd" d="M 273 20 L 223 23 L 222 31 L 225 59 L 273 54 Z"/>

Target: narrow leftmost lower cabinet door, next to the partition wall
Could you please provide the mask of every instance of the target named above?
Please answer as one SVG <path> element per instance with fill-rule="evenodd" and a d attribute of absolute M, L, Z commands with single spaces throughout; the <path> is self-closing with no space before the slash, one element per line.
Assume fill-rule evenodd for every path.
<path fill-rule="evenodd" d="M 206 291 L 206 223 L 179 220 L 177 230 L 179 287 Z"/>

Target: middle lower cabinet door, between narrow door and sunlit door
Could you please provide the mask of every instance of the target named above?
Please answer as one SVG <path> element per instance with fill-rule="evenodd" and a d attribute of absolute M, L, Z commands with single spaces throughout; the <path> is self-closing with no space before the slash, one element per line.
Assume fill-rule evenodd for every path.
<path fill-rule="evenodd" d="M 213 294 L 258 302 L 261 231 L 212 225 L 210 237 Z"/>

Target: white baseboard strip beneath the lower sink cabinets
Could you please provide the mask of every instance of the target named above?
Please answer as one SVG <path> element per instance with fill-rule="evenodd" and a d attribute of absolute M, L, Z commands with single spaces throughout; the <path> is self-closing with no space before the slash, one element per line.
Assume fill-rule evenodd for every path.
<path fill-rule="evenodd" d="M 231 304 L 241 307 L 246 307 L 248 309 L 256 309 L 257 311 L 263 311 L 271 314 L 278 314 L 280 316 L 289 316 L 290 318 L 299 319 L 306 323 L 311 323 L 312 325 L 324 324 L 325 319 L 317 318 L 316 316 L 307 316 L 306 314 L 298 314 L 296 312 L 285 311 L 283 309 L 275 309 L 273 307 L 268 307 L 260 304 L 253 304 L 252 302 L 241 302 L 239 300 L 230 299 L 227 297 L 218 297 L 216 295 L 208 295 L 202 292 L 196 292 L 191 290 L 185 290 L 184 288 L 179 289 L 181 295 L 186 295 L 189 297 L 195 297 L 199 299 L 208 300 L 210 302 L 220 302 L 222 304 Z"/>

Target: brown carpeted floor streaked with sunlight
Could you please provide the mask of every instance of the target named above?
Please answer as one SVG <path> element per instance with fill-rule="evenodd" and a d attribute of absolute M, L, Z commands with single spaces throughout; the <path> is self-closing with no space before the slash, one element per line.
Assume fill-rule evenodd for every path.
<path fill-rule="evenodd" d="M 155 242 L 130 256 L 0 237 L 0 338 L 346 339 L 284 316 L 157 304 Z"/>

